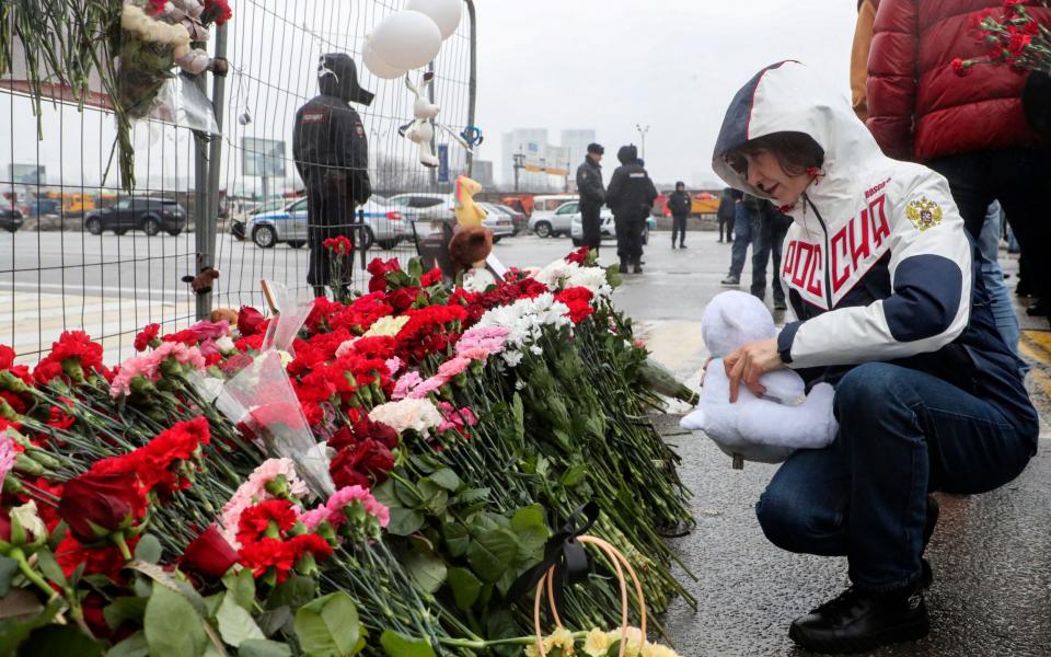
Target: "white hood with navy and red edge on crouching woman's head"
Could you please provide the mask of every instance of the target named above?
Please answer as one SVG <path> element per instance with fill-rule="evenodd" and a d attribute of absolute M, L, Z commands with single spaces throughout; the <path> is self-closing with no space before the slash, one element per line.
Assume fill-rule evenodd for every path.
<path fill-rule="evenodd" d="M 715 173 L 736 189 L 775 200 L 749 185 L 725 160 L 731 149 L 774 132 L 804 132 L 824 150 L 820 183 L 807 189 L 811 197 L 835 194 L 856 180 L 858 172 L 887 161 L 847 97 L 829 89 L 798 61 L 778 61 L 764 68 L 730 101 L 712 155 Z"/>

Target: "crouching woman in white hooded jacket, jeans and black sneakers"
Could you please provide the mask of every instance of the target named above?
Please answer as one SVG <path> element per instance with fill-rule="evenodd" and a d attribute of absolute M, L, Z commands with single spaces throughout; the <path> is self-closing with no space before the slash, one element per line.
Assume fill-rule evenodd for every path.
<path fill-rule="evenodd" d="M 848 560 L 851 588 L 789 635 L 825 653 L 925 636 L 929 493 L 1012 481 L 1039 430 L 948 184 L 885 157 L 845 97 L 788 61 L 734 97 L 713 165 L 794 220 L 782 278 L 797 320 L 725 359 L 731 401 L 784 367 L 835 385 L 835 441 L 789 457 L 755 505 L 776 545 Z"/>

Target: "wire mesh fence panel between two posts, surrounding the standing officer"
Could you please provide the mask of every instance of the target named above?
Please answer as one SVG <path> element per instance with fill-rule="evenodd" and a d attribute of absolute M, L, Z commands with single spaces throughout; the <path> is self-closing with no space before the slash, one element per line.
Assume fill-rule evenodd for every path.
<path fill-rule="evenodd" d="M 354 56 L 361 85 L 376 93 L 370 106 L 355 105 L 369 141 L 373 198 L 367 209 L 370 214 L 397 212 L 402 217 L 401 220 L 369 219 L 373 244 L 366 260 L 405 261 L 415 255 L 414 241 L 406 237 L 412 234 L 407 226 L 409 219 L 417 216 L 419 209 L 413 206 L 426 205 L 426 195 L 450 192 L 451 184 L 440 183 L 437 170 L 424 168 L 417 147 L 399 135 L 399 127 L 413 119 L 415 99 L 404 79 L 379 79 L 361 65 L 365 36 L 400 8 L 400 3 L 389 2 L 293 0 L 281 2 L 280 11 L 276 11 L 273 2 L 241 0 L 236 3 L 238 25 L 232 30 L 228 50 L 233 70 L 228 80 L 223 135 L 227 211 L 220 223 L 216 251 L 217 267 L 221 272 L 217 306 L 261 306 L 261 277 L 293 289 L 307 286 L 308 250 L 301 239 L 268 247 L 259 244 L 270 239 L 266 232 L 270 224 L 267 215 L 291 215 L 291 219 L 284 221 L 293 221 L 303 229 L 289 232 L 293 238 L 304 234 L 305 198 L 298 198 L 302 183 L 293 174 L 292 127 L 296 111 L 317 94 L 317 60 L 325 53 L 343 51 Z M 438 120 L 455 132 L 465 127 L 467 116 L 470 46 L 467 21 L 463 20 L 434 62 L 434 102 L 441 107 Z M 417 82 L 419 71 L 412 76 Z M 239 120 L 244 116 L 251 117 L 251 123 L 243 125 L 243 120 Z M 454 143 L 449 145 L 451 140 L 440 132 L 436 141 L 448 145 L 448 180 L 452 181 L 465 169 L 465 152 Z M 268 152 L 284 154 L 269 155 Z M 272 161 L 263 164 L 267 170 L 282 170 L 284 175 L 265 182 L 262 176 L 245 175 L 245 159 L 253 157 L 281 159 L 281 165 Z M 264 196 L 269 198 L 261 207 Z M 390 197 L 396 203 L 383 201 Z M 239 240 L 231 233 L 234 223 L 239 229 L 244 226 L 244 239 Z M 253 240 L 256 231 L 259 231 L 258 239 Z M 354 283 L 360 286 L 361 261 L 355 262 Z"/>

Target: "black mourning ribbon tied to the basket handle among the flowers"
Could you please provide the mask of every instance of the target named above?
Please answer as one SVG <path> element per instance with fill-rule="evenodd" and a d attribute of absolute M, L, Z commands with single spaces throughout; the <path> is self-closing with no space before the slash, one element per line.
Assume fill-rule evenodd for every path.
<path fill-rule="evenodd" d="M 515 602 L 522 596 L 536 589 L 540 579 L 554 566 L 552 576 L 552 591 L 554 604 L 562 609 L 563 591 L 566 586 L 586 581 L 591 569 L 588 553 L 577 537 L 587 533 L 594 521 L 599 519 L 599 505 L 592 500 L 574 509 L 566 522 L 555 530 L 554 535 L 544 544 L 544 558 L 539 564 L 522 573 L 508 589 L 505 599 L 508 603 Z M 579 527 L 579 522 L 584 521 Z"/>

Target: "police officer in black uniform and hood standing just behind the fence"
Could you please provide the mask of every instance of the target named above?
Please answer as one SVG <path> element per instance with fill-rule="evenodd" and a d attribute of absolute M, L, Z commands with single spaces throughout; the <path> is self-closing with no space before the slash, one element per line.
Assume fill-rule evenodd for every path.
<path fill-rule="evenodd" d="M 292 157 L 307 185 L 307 283 L 314 287 L 316 296 L 323 297 L 332 264 L 322 242 L 337 235 L 353 238 L 355 209 L 372 194 L 365 126 L 348 103 L 368 106 L 373 94 L 358 84 L 354 59 L 344 53 L 321 56 L 317 87 L 321 94 L 296 113 Z M 338 275 L 343 284 L 350 280 L 350 260 L 345 258 L 346 270 Z"/>

